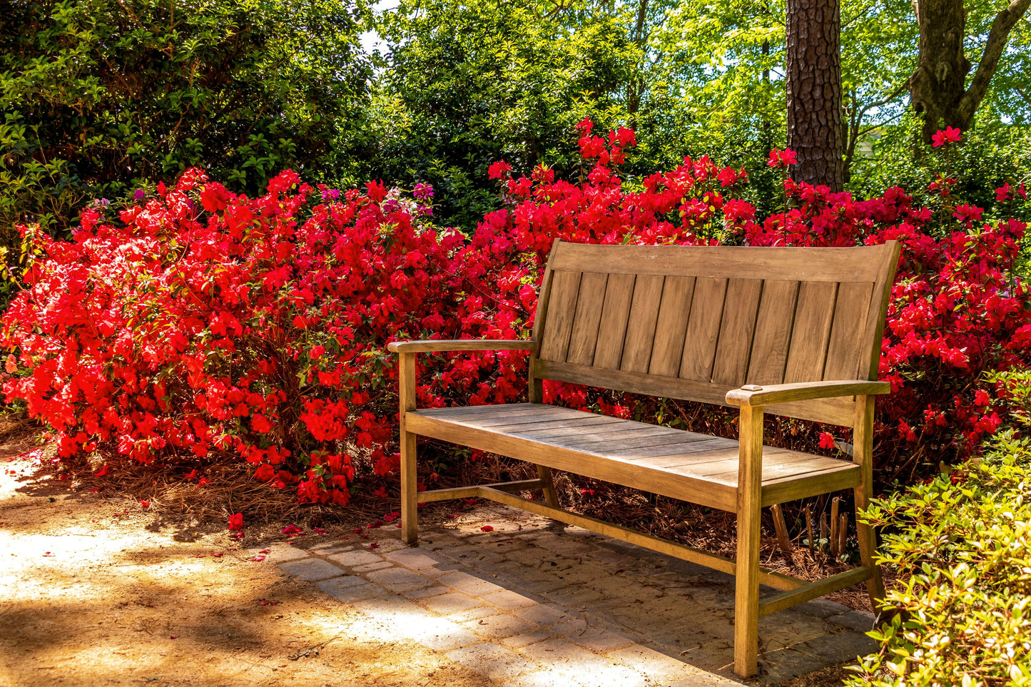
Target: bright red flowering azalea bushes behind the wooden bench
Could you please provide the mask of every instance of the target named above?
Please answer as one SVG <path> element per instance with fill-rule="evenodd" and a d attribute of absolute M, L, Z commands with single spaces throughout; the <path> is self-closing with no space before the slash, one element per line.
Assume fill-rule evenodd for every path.
<path fill-rule="evenodd" d="M 386 343 L 527 337 L 557 238 L 898 239 L 880 369 L 896 393 L 878 404 L 878 455 L 901 470 L 921 457 L 967 453 L 994 431 L 1005 391 L 982 372 L 1031 362 L 1031 293 L 1013 274 L 1022 222 L 982 222 L 978 208 L 950 198 L 946 178 L 937 207 L 900 189 L 858 201 L 786 182 L 793 207 L 759 222 L 735 197 L 743 171 L 686 159 L 630 190 L 617 169 L 634 133 L 606 140 L 585 121 L 580 134 L 591 169 L 579 184 L 544 166 L 512 177 L 494 165 L 505 205 L 470 237 L 433 226 L 428 187 L 413 197 L 377 183 L 340 194 L 290 171 L 247 198 L 190 170 L 173 189 L 137 192 L 117 219 L 85 211 L 71 241 L 25 229 L 42 257 L 3 317 L 6 399 L 47 423 L 67 460 L 100 444 L 184 467 L 230 453 L 258 480 L 296 488 L 301 501 L 346 503 L 356 468 L 397 466 L 396 368 Z M 771 156 L 771 165 L 790 163 L 790 152 Z M 420 363 L 422 405 L 524 393 L 525 353 Z M 650 402 L 558 383 L 545 396 L 624 416 Z"/>

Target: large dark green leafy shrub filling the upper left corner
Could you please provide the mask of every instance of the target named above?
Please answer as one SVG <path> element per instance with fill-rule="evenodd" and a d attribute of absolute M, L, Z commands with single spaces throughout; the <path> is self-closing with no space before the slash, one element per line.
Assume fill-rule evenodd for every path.
<path fill-rule="evenodd" d="M 194 165 L 252 193 L 278 169 L 317 165 L 354 126 L 371 74 L 343 2 L 6 3 L 3 242 L 18 222 L 61 229 L 87 198 Z"/>

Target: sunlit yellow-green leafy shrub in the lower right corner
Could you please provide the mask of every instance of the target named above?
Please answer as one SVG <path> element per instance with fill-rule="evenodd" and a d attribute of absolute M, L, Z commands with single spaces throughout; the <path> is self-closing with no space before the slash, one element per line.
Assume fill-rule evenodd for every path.
<path fill-rule="evenodd" d="M 880 651 L 846 685 L 1031 684 L 1029 469 L 1031 440 L 1010 431 L 982 461 L 874 502 L 900 614 L 871 632 Z"/>

